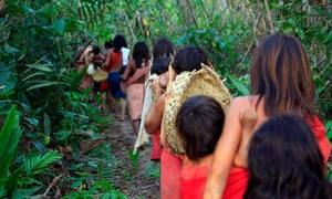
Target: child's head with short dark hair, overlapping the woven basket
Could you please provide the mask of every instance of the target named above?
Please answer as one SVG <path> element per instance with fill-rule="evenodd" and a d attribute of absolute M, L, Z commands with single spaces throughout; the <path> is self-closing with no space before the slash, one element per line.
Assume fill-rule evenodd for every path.
<path fill-rule="evenodd" d="M 215 98 L 196 95 L 185 101 L 176 116 L 175 126 L 190 160 L 214 153 L 224 121 L 225 113 Z"/>

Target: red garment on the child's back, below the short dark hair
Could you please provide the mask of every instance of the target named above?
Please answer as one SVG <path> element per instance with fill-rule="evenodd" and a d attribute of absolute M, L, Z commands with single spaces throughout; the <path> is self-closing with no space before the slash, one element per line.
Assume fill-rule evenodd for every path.
<path fill-rule="evenodd" d="M 184 166 L 180 175 L 180 198 L 201 199 L 209 167 Z"/>

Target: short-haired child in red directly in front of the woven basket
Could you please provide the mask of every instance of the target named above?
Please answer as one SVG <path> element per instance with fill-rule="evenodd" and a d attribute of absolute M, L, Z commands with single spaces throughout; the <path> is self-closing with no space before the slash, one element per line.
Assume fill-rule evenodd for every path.
<path fill-rule="evenodd" d="M 220 104 L 206 95 L 189 97 L 178 111 L 175 125 L 186 151 L 180 176 L 181 199 L 201 198 L 224 121 Z M 256 117 L 243 117 L 243 129 L 250 132 L 255 123 Z"/>

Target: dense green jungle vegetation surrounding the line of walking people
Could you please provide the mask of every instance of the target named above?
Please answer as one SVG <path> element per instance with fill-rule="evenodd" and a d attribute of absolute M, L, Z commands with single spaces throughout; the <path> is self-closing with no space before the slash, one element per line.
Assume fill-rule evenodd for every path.
<path fill-rule="evenodd" d="M 110 119 L 85 103 L 90 91 L 77 90 L 82 74 L 73 57 L 84 35 L 98 45 L 122 33 L 131 46 L 159 36 L 203 46 L 240 95 L 249 93 L 248 65 L 259 40 L 294 34 L 310 56 L 317 108 L 331 140 L 331 1 L 0 0 L 0 197 L 44 192 L 45 181 L 60 175 L 48 168 L 59 164 L 59 150 L 71 146 L 75 156 L 79 142 L 97 136 Z M 94 186 L 101 185 L 113 190 Z"/>

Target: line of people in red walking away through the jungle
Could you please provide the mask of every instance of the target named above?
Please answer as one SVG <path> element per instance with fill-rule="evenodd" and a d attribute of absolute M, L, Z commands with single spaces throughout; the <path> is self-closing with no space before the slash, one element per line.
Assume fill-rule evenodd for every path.
<path fill-rule="evenodd" d="M 332 198 L 331 145 L 297 38 L 266 36 L 251 60 L 251 94 L 235 98 L 201 48 L 158 39 L 153 57 L 145 42 L 129 52 L 117 35 L 98 65 L 121 119 L 128 102 L 137 147 L 152 136 L 160 198 Z"/>

